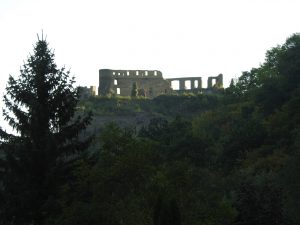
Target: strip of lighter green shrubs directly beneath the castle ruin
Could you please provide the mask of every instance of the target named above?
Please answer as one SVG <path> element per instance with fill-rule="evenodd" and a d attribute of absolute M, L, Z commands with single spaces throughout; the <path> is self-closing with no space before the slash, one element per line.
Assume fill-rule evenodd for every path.
<path fill-rule="evenodd" d="M 177 115 L 191 117 L 202 111 L 216 108 L 222 104 L 220 94 L 199 95 L 160 95 L 149 99 L 131 97 L 90 97 L 79 103 L 79 107 L 93 112 L 96 118 L 106 116 L 136 116 L 138 113 L 148 117 L 164 117 L 173 119 Z M 133 124 L 134 125 L 134 124 Z"/>

